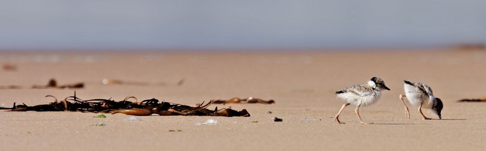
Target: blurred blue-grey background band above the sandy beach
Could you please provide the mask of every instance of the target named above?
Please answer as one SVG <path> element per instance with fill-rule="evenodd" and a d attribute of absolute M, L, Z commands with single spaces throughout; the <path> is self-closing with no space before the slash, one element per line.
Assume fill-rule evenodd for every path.
<path fill-rule="evenodd" d="M 0 50 L 486 43 L 486 0 L 0 0 Z"/>

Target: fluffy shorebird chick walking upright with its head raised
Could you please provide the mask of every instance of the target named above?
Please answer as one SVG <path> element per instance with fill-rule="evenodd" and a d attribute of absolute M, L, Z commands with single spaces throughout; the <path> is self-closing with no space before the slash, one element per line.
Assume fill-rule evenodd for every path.
<path fill-rule="evenodd" d="M 334 117 L 334 120 L 337 120 L 339 124 L 344 124 L 344 122 L 339 121 L 339 115 L 347 105 L 353 104 L 357 106 L 354 111 L 360 119 L 361 124 L 373 124 L 363 122 L 359 109 L 360 106 L 366 106 L 380 100 L 382 97 L 382 90 L 390 89 L 386 87 L 385 82 L 383 82 L 382 79 L 373 77 L 368 84 L 353 85 L 337 91 L 337 97 L 347 101 L 347 103 L 341 107 L 341 110 L 339 110 L 336 117 Z"/>

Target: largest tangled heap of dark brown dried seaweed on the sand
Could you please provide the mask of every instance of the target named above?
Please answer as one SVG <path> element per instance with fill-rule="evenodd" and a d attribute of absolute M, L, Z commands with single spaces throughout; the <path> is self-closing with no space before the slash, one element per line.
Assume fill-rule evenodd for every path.
<path fill-rule="evenodd" d="M 92 113 L 122 113 L 133 116 L 150 116 L 157 114 L 160 116 L 222 116 L 222 117 L 250 117 L 250 114 L 243 109 L 242 111 L 235 111 L 232 109 L 220 109 L 216 107 L 214 110 L 209 110 L 207 107 L 215 101 L 191 107 L 171 102 L 160 102 L 157 99 L 150 99 L 138 102 L 135 97 L 126 97 L 122 101 L 114 101 L 111 99 L 92 99 L 82 100 L 74 96 L 67 97 L 63 101 L 58 101 L 53 96 L 46 96 L 54 98 L 54 102 L 49 104 L 28 106 L 26 104 L 16 105 L 12 108 L 0 107 L 0 109 L 10 111 L 72 111 L 72 112 L 92 112 Z M 128 101 L 128 99 L 135 99 L 135 102 Z"/>

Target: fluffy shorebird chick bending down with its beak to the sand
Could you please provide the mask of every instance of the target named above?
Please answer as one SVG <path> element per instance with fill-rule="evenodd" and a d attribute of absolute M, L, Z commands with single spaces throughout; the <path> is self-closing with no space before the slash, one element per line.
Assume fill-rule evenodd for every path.
<path fill-rule="evenodd" d="M 404 81 L 403 84 L 405 89 L 405 94 L 400 94 L 400 100 L 405 106 L 405 117 L 410 118 L 410 112 L 408 112 L 408 107 L 403 101 L 403 97 L 407 97 L 407 100 L 414 106 L 418 106 L 418 112 L 422 115 L 423 119 L 431 119 L 425 117 L 422 113 L 422 107 L 426 109 L 431 109 L 432 112 L 442 118 L 440 112 L 442 111 L 442 101 L 439 98 L 435 98 L 432 93 L 432 89 L 424 83 L 413 83 L 410 81 Z"/>

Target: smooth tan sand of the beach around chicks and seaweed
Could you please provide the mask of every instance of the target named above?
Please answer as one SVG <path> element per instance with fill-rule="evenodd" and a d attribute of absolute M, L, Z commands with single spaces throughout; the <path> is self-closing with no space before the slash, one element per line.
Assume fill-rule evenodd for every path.
<path fill-rule="evenodd" d="M 195 105 L 213 99 L 255 97 L 276 104 L 211 105 L 247 109 L 251 117 L 149 116 L 124 121 L 123 114 L 1 112 L 1 151 L 484 151 L 486 102 L 456 102 L 486 96 L 486 52 L 454 50 L 331 52 L 0 52 L 2 107 L 14 102 L 46 104 L 72 96 L 72 89 L 30 89 L 32 84 L 85 82 L 81 99 L 156 98 Z M 360 124 L 334 92 L 377 76 L 391 91 L 360 108 Z M 104 78 L 140 85 L 104 85 Z M 176 83 L 184 78 L 185 83 Z M 425 82 L 444 101 L 442 120 L 411 118 L 399 101 L 403 81 Z M 165 86 L 157 85 L 161 82 Z M 267 114 L 272 111 L 273 114 Z M 437 118 L 425 110 L 428 117 Z M 279 117 L 283 122 L 274 122 Z M 217 125 L 194 125 L 209 118 Z M 90 126 L 105 121 L 106 126 Z M 258 122 L 251 122 L 258 121 Z M 175 130 L 176 132 L 169 132 Z M 182 132 L 177 132 L 181 130 Z"/>

